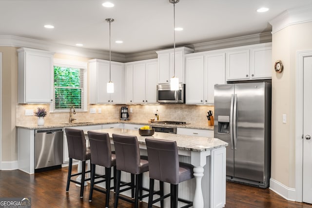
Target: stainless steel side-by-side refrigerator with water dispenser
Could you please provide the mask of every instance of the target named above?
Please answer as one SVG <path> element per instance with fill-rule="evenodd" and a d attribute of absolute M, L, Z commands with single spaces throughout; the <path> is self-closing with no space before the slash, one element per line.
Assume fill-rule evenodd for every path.
<path fill-rule="evenodd" d="M 215 138 L 229 143 L 228 181 L 269 187 L 271 83 L 216 84 Z"/>

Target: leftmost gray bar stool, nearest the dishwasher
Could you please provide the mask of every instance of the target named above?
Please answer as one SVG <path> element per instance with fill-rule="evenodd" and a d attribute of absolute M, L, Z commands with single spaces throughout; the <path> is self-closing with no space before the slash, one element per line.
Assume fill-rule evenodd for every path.
<path fill-rule="evenodd" d="M 66 192 L 69 191 L 69 184 L 73 182 L 80 185 L 80 198 L 83 197 L 84 182 L 89 181 L 90 178 L 85 178 L 85 174 L 89 173 L 90 170 L 86 171 L 86 160 L 90 160 L 91 151 L 90 148 L 86 147 L 86 140 L 84 137 L 83 130 L 75 128 L 65 128 L 67 145 L 68 145 L 68 157 L 69 157 L 69 166 L 68 166 L 68 176 L 67 176 L 67 185 Z M 73 159 L 82 161 L 82 170 L 81 173 L 72 174 Z M 81 175 L 81 183 L 71 179 L 71 177 Z"/>

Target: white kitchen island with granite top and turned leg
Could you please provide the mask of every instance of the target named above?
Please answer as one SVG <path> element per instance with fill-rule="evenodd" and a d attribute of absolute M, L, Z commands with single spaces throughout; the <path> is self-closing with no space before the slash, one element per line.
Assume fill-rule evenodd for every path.
<path fill-rule="evenodd" d="M 207 137 L 195 137 L 188 135 L 176 135 L 156 132 L 153 136 L 140 136 L 137 130 L 111 128 L 98 129 L 98 132 L 112 134 L 126 134 L 137 136 L 141 155 L 147 155 L 145 138 L 156 138 L 176 141 L 180 162 L 191 163 L 194 166 L 195 179 L 183 182 L 179 185 L 179 197 L 193 200 L 194 208 L 222 208 L 225 205 L 226 185 L 226 146 L 227 143 Z M 87 136 L 87 131 L 85 131 Z M 113 140 L 112 140 L 113 144 Z M 97 173 L 104 173 L 104 168 L 98 167 Z M 98 172 L 99 171 L 99 172 Z M 123 174 L 122 180 L 130 180 L 130 174 Z M 168 184 L 165 184 L 168 185 Z M 148 173 L 143 175 L 143 186 L 149 186 Z M 158 187 L 155 187 L 157 189 Z M 170 190 L 165 186 L 165 193 Z M 125 192 L 125 195 L 130 192 Z M 147 198 L 145 200 L 147 201 Z M 165 207 L 170 207 L 166 203 Z"/>

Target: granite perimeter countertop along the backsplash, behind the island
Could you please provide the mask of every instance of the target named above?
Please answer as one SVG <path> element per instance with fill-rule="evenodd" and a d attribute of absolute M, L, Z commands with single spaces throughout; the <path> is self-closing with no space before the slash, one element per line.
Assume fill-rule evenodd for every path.
<path fill-rule="evenodd" d="M 181 128 L 196 128 L 196 129 L 206 129 L 206 130 L 214 130 L 214 126 L 200 126 L 194 124 L 186 124 L 186 125 L 169 125 L 169 124 L 157 124 L 146 121 L 111 121 L 111 122 L 79 122 L 72 124 L 69 123 L 56 123 L 56 124 L 45 124 L 45 125 L 16 125 L 18 128 L 27 128 L 27 129 L 46 129 L 46 128 L 64 128 L 64 127 L 72 127 L 72 126 L 85 126 L 85 125 L 105 125 L 105 124 L 134 124 L 134 125 L 153 125 L 153 126 L 161 126 L 161 127 L 181 127 Z"/>

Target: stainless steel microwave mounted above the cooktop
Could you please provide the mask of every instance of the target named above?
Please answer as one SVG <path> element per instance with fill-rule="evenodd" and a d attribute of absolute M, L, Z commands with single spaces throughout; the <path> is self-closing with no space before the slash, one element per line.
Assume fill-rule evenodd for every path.
<path fill-rule="evenodd" d="M 170 84 L 157 85 L 157 103 L 185 103 L 185 84 L 179 90 L 170 90 Z"/>

